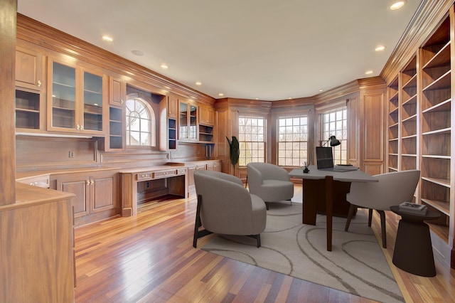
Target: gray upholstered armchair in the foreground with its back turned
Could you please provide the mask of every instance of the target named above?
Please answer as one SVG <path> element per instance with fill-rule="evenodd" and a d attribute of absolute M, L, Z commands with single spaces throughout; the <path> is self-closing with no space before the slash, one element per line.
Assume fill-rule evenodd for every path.
<path fill-rule="evenodd" d="M 261 246 L 267 217 L 261 198 L 250 194 L 236 176 L 218 171 L 196 171 L 194 182 L 198 195 L 194 248 L 198 238 L 210 233 L 248 235 Z"/>

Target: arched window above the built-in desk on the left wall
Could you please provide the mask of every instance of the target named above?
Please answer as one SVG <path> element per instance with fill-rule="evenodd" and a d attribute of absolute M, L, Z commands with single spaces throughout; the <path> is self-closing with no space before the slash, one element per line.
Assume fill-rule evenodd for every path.
<path fill-rule="evenodd" d="M 155 115 L 141 98 L 127 100 L 127 146 L 154 147 L 156 145 Z"/>

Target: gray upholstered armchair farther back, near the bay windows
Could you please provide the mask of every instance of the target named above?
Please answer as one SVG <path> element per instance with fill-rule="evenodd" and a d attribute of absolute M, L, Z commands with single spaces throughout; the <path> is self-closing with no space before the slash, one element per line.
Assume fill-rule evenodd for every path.
<path fill-rule="evenodd" d="M 247 182 L 253 193 L 267 205 L 269 202 L 291 200 L 294 184 L 286 169 L 274 164 L 252 162 L 247 164 Z"/>

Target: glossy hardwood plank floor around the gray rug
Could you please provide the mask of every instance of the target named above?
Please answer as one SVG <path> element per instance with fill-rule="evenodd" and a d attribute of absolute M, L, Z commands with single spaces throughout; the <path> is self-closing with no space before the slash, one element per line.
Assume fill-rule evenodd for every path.
<path fill-rule="evenodd" d="M 301 187 L 296 186 L 296 192 Z M 120 217 L 75 230 L 76 302 L 372 302 L 193 248 L 196 196 L 163 198 Z M 392 264 L 397 216 L 387 212 Z M 373 229 L 380 241 L 378 216 Z M 379 232 L 379 233 L 378 233 Z M 391 265 L 406 302 L 455 302 L 454 270 L 437 262 L 437 277 Z"/>

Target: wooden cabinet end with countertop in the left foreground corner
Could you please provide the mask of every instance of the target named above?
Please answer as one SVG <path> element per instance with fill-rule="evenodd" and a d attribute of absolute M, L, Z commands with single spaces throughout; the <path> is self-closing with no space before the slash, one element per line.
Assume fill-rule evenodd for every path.
<path fill-rule="evenodd" d="M 0 206 L 0 302 L 74 302 L 72 194 L 16 184 Z"/>

